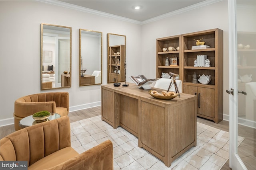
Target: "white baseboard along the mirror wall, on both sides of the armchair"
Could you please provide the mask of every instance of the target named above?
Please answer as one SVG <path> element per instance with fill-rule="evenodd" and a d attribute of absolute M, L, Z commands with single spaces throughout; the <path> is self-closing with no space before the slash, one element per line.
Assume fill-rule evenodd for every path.
<path fill-rule="evenodd" d="M 69 107 L 69 112 L 76 111 L 76 110 L 82 110 L 82 109 L 88 109 L 90 107 L 96 107 L 96 106 L 101 106 L 101 102 L 94 102 L 94 103 L 82 104 L 82 105 L 78 105 L 78 106 L 71 106 L 71 107 Z M 8 119 L 0 119 L 0 127 L 12 125 L 12 124 L 14 124 L 13 117 L 8 118 Z"/>

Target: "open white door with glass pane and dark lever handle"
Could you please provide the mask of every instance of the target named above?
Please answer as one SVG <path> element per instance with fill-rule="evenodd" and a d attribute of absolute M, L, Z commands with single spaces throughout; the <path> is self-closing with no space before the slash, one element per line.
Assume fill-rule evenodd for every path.
<path fill-rule="evenodd" d="M 255 170 L 252 165 L 256 160 L 256 1 L 228 0 L 228 8 L 230 168 Z M 242 133 L 244 129 L 248 135 Z M 238 135 L 246 137 L 244 145 L 249 139 L 249 149 L 245 150 L 244 145 L 238 147 Z"/>

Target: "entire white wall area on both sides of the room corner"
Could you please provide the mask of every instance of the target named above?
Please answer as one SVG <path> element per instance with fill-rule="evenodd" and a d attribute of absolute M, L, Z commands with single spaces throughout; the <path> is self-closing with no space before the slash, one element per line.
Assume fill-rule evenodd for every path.
<path fill-rule="evenodd" d="M 100 86 L 78 86 L 79 28 L 103 33 L 103 84 L 107 82 L 107 33 L 126 35 L 127 77 L 156 76 L 156 38 L 205 29 L 224 30 L 224 89 L 228 89 L 228 2 L 138 25 L 37 1 L 0 1 L 0 121 L 12 118 L 14 101 L 28 94 L 66 91 L 70 111 L 100 104 Z M 72 87 L 40 90 L 40 23 L 72 27 Z M 150 69 L 151 68 L 151 69 Z M 127 78 L 127 82 L 131 82 Z M 224 113 L 228 96 L 224 93 Z"/>

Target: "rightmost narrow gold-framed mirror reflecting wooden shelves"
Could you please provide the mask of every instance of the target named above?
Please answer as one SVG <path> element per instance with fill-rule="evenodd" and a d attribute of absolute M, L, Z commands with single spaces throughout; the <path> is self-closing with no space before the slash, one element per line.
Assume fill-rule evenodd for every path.
<path fill-rule="evenodd" d="M 108 33 L 108 83 L 124 82 L 126 36 Z"/>

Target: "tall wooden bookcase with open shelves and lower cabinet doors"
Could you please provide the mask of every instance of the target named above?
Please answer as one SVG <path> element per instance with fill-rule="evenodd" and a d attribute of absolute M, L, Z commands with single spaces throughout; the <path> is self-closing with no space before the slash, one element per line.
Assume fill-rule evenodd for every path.
<path fill-rule="evenodd" d="M 201 39 L 202 37 L 202 41 L 205 41 L 206 45 L 211 48 L 192 50 L 192 46 L 196 45 L 194 39 Z M 168 56 L 168 53 L 162 52 L 162 48 L 166 45 L 173 47 L 178 46 L 178 44 L 180 51 L 174 52 L 178 54 L 179 67 L 166 68 L 166 66 L 163 66 L 162 60 Z M 182 80 L 182 92 L 198 96 L 197 116 L 219 123 L 223 119 L 223 31 L 221 29 L 210 29 L 156 39 L 156 51 L 156 77 L 161 77 L 162 72 L 179 74 L 180 80 Z M 194 67 L 197 55 L 207 55 L 211 66 Z M 211 75 L 210 83 L 192 83 L 194 72 L 196 72 L 198 78 L 202 74 Z"/>

